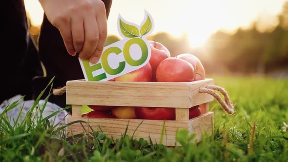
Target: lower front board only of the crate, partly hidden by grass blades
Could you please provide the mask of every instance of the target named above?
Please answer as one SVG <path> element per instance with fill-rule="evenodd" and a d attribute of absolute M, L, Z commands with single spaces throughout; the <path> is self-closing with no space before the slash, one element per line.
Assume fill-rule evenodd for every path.
<path fill-rule="evenodd" d="M 103 130 L 103 132 L 108 136 L 113 138 L 121 137 L 124 134 L 126 127 L 127 135 L 130 137 L 133 135 L 135 138 L 144 138 L 149 141 L 161 140 L 162 130 L 165 123 L 165 129 L 163 133 L 163 144 L 165 145 L 175 145 L 175 136 L 177 130 L 190 129 L 191 123 L 189 121 L 158 121 L 158 120 L 123 120 L 123 119 L 100 119 L 100 118 L 67 118 L 68 123 L 72 121 L 86 121 L 94 129 L 94 131 Z M 143 121 L 143 122 L 142 122 Z M 141 123 L 142 122 L 142 123 Z M 141 124 L 140 124 L 141 123 Z M 83 124 L 83 123 L 82 123 Z M 140 125 L 139 125 L 140 124 Z M 91 132 L 91 129 L 87 124 L 83 124 L 86 131 Z M 139 127 L 138 127 L 139 126 Z M 138 127 L 138 128 L 137 128 Z M 137 128 L 137 130 L 136 130 Z M 136 130 L 136 131 L 135 131 Z M 68 131 L 72 131 L 73 134 L 83 133 L 83 127 L 80 123 L 72 124 L 68 127 Z"/>

